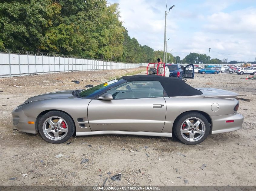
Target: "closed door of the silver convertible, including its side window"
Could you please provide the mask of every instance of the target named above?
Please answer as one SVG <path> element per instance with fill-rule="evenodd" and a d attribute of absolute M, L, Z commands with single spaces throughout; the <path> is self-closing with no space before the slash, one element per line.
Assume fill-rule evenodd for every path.
<path fill-rule="evenodd" d="M 161 132 L 165 123 L 164 89 L 159 81 L 133 81 L 105 92 L 112 100 L 93 99 L 88 105 L 92 131 Z"/>

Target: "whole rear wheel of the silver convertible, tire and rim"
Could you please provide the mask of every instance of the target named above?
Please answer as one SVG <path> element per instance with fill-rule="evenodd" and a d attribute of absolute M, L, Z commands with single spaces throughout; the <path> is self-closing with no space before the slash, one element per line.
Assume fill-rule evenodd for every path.
<path fill-rule="evenodd" d="M 185 113 L 174 124 L 176 137 L 187 145 L 196 145 L 203 142 L 209 132 L 209 122 L 201 113 Z"/>

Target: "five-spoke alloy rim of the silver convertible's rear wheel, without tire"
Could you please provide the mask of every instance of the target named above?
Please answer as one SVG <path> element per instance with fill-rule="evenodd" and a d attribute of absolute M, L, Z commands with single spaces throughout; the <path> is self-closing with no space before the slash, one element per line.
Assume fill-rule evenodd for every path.
<path fill-rule="evenodd" d="M 205 133 L 204 122 L 197 117 L 186 119 L 181 125 L 181 135 L 190 142 L 200 140 Z"/>

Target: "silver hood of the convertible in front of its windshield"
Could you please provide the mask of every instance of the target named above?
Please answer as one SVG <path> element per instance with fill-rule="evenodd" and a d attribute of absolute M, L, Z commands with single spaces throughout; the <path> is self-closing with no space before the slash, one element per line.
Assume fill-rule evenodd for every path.
<path fill-rule="evenodd" d="M 46 93 L 46 94 L 41 94 L 41 95 L 37 95 L 37 96 L 34 96 L 34 97 L 30 97 L 25 102 L 73 97 L 72 91 L 74 91 L 74 90 L 55 91 L 55 92 L 50 92 L 50 93 Z"/>

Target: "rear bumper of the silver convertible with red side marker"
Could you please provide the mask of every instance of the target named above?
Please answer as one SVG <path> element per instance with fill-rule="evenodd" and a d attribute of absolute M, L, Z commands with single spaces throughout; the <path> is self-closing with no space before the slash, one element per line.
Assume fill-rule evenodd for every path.
<path fill-rule="evenodd" d="M 235 112 L 232 115 L 211 116 L 212 132 L 211 134 L 236 131 L 242 128 L 244 116 Z M 228 120 L 234 120 L 232 123 L 226 123 Z"/>

